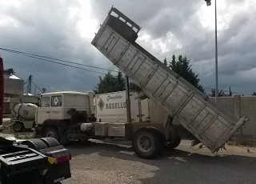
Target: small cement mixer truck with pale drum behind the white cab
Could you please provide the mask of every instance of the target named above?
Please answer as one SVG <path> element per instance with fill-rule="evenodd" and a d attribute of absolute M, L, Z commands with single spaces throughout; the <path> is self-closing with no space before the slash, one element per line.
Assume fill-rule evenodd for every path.
<path fill-rule="evenodd" d="M 35 112 L 38 106 L 32 103 L 17 103 L 13 107 L 11 125 L 15 132 L 31 130 L 35 127 Z"/>

